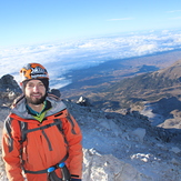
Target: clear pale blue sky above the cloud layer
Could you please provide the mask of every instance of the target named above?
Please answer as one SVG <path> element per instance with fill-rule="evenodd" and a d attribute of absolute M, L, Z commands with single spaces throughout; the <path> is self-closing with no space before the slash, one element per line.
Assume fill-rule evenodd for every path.
<path fill-rule="evenodd" d="M 0 0 L 0 47 L 172 28 L 180 0 Z"/>

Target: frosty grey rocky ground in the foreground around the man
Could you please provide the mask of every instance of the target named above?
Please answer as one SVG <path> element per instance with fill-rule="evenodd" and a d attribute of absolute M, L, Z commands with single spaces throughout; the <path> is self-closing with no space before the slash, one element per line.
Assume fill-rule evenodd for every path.
<path fill-rule="evenodd" d="M 83 133 L 83 181 L 181 181 L 181 141 L 167 142 L 144 117 L 66 104 Z M 2 127 L 8 110 L 0 113 Z"/>

